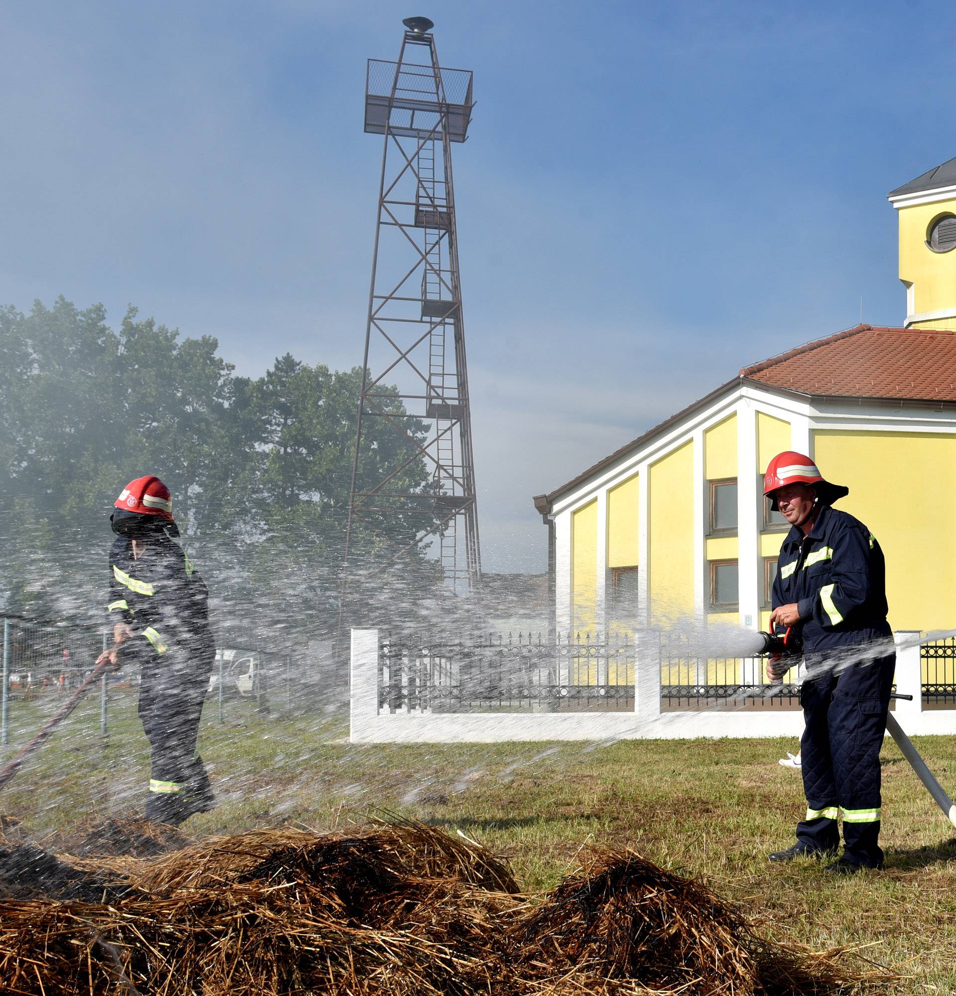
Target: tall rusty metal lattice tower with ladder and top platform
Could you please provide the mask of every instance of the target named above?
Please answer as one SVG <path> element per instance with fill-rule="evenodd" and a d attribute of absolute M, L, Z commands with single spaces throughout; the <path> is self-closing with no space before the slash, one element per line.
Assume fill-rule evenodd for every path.
<path fill-rule="evenodd" d="M 387 541 L 387 555 L 370 573 L 423 544 L 437 554 L 446 592 L 472 590 L 481 573 L 451 175 L 451 143 L 465 140 L 471 120 L 472 74 L 439 67 L 429 20 L 403 23 L 398 61 L 369 59 L 366 75 L 365 131 L 384 142 L 344 595 L 359 524 Z M 397 403 L 404 414 L 387 410 Z M 387 419 L 413 445 L 398 470 L 362 485 L 359 454 L 370 418 Z M 427 468 L 427 488 L 396 486 L 415 461 Z M 400 540 L 382 529 L 388 519 L 401 524 Z"/>

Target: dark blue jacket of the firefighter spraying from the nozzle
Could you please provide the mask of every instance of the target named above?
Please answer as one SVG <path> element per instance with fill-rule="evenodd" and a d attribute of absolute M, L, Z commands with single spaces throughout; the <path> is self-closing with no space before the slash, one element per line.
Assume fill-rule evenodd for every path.
<path fill-rule="evenodd" d="M 801 618 L 794 631 L 807 654 L 891 635 L 883 552 L 858 519 L 825 505 L 809 536 L 796 526 L 787 534 L 772 605 L 794 602 Z"/>

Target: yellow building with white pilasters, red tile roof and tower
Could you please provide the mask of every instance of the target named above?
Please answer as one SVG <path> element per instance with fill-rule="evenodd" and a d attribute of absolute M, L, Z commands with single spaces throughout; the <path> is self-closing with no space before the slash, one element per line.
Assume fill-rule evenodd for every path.
<path fill-rule="evenodd" d="M 789 527 L 762 477 L 784 449 L 849 487 L 837 508 L 883 548 L 893 628 L 956 626 L 956 159 L 889 199 L 904 327 L 860 325 L 745 368 L 534 499 L 560 631 L 687 616 L 768 628 Z"/>

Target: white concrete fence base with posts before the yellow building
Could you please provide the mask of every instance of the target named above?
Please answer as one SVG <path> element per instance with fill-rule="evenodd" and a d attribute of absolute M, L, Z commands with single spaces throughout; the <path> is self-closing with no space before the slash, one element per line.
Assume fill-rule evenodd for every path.
<path fill-rule="evenodd" d="M 910 736 L 956 733 L 956 709 L 924 711 L 919 644 L 896 633 L 894 715 Z M 900 642 L 904 645 L 900 646 Z M 634 661 L 632 712 L 455 712 L 379 709 L 378 630 L 352 630 L 352 743 L 501 743 L 546 740 L 689 740 L 696 737 L 791 737 L 804 730 L 800 709 L 660 711 L 660 660 Z"/>

